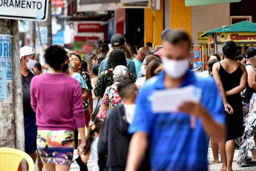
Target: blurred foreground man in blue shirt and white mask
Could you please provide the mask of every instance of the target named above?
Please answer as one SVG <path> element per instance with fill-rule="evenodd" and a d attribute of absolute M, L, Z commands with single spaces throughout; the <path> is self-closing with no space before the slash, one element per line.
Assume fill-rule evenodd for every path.
<path fill-rule="evenodd" d="M 140 167 L 147 147 L 153 171 L 207 171 L 205 132 L 217 141 L 224 141 L 226 113 L 219 91 L 212 78 L 199 77 L 190 71 L 190 45 L 185 32 L 172 31 L 165 36 L 162 58 L 165 72 L 147 81 L 136 100 L 129 128 L 133 137 L 126 171 Z M 201 89 L 201 100 L 184 102 L 177 106 L 177 113 L 152 111 L 154 92 L 186 86 Z"/>

